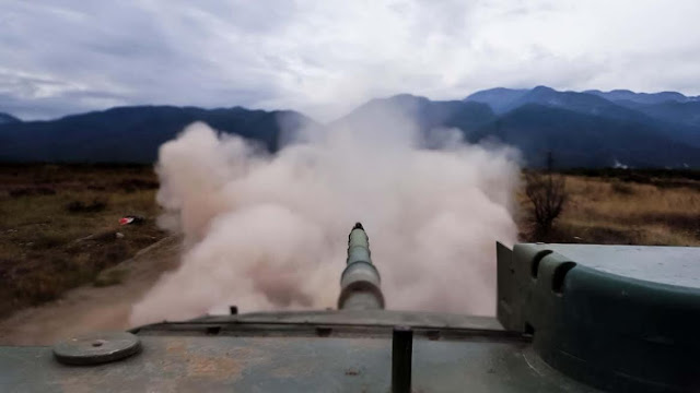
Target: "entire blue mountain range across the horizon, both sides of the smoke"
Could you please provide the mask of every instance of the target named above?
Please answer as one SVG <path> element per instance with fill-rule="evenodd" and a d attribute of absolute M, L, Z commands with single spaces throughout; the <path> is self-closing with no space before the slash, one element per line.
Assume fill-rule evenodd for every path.
<path fill-rule="evenodd" d="M 410 118 L 421 132 L 454 128 L 472 143 L 513 145 L 528 166 L 540 166 L 552 152 L 561 167 L 700 168 L 700 97 L 676 92 L 498 87 L 457 100 L 401 94 L 372 99 L 326 126 L 390 127 L 378 124 L 390 111 Z M 0 162 L 152 163 L 163 142 L 197 120 L 269 151 L 288 132 L 324 127 L 291 110 L 242 107 L 117 107 L 26 122 L 0 114 Z"/>

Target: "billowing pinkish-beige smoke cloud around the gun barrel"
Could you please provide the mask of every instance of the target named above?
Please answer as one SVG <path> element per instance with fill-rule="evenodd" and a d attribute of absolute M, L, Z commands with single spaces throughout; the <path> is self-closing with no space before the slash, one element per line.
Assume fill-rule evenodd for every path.
<path fill-rule="evenodd" d="M 186 250 L 131 323 L 230 305 L 335 308 L 355 222 L 387 308 L 493 314 L 494 242 L 517 233 L 514 152 L 465 144 L 454 130 L 425 136 L 396 114 L 370 120 L 310 132 L 275 155 L 203 123 L 165 143 L 161 225 L 183 233 Z"/>

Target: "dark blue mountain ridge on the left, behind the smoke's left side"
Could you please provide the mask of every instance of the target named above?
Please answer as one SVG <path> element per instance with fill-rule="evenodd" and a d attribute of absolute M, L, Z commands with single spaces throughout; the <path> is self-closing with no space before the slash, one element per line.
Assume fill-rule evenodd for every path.
<path fill-rule="evenodd" d="M 194 121 L 276 151 L 285 131 L 314 124 L 294 111 L 137 106 L 52 121 L 0 124 L 0 160 L 153 163 L 159 146 Z M 281 127 L 282 124 L 283 127 Z"/>

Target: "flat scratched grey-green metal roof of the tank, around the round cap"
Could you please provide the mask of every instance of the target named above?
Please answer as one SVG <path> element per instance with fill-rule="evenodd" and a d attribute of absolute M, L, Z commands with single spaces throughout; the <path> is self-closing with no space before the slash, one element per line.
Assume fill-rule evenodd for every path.
<path fill-rule="evenodd" d="M 0 348 L 2 392 L 383 392 L 389 337 L 141 336 L 143 352 L 93 367 L 58 364 L 47 347 Z M 417 338 L 415 392 L 595 392 L 529 344 Z"/>

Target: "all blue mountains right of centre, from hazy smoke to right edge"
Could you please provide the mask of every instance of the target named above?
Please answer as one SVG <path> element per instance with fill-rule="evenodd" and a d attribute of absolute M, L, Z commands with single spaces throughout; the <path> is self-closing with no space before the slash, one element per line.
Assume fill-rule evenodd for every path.
<path fill-rule="evenodd" d="M 373 99 L 338 122 L 368 128 L 382 121 L 374 114 L 408 114 L 422 131 L 453 127 L 470 142 L 495 139 L 516 146 L 529 166 L 544 164 L 552 151 L 562 167 L 700 167 L 700 128 L 660 121 L 592 94 L 545 86 L 489 92 L 477 98 L 503 94 L 514 108 L 498 116 L 486 103 L 471 100 L 474 95 L 463 102 L 398 95 Z"/>

